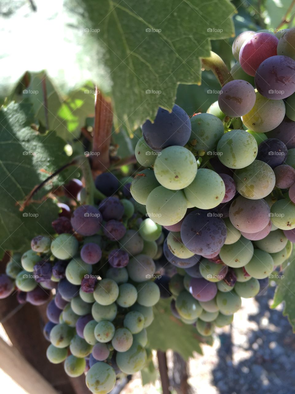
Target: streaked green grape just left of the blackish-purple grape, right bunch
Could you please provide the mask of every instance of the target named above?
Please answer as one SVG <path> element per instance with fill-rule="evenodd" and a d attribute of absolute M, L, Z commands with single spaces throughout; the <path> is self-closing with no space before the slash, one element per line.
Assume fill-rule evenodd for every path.
<path fill-rule="evenodd" d="M 245 130 L 230 130 L 217 144 L 218 158 L 229 168 L 237 169 L 250 165 L 255 160 L 257 152 L 256 139 Z"/>

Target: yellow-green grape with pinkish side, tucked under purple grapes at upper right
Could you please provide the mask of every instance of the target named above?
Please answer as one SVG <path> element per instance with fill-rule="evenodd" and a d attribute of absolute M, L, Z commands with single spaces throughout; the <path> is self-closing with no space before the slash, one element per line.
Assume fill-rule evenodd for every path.
<path fill-rule="evenodd" d="M 242 121 L 250 130 L 264 133 L 280 125 L 285 112 L 283 100 L 270 100 L 257 92 L 254 107 L 242 116 Z"/>

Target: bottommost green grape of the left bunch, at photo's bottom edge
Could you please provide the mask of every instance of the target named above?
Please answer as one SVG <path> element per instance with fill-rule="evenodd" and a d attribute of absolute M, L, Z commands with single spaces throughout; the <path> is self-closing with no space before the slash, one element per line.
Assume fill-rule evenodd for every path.
<path fill-rule="evenodd" d="M 86 374 L 86 385 L 94 394 L 107 394 L 116 384 L 114 368 L 105 362 L 96 362 Z"/>

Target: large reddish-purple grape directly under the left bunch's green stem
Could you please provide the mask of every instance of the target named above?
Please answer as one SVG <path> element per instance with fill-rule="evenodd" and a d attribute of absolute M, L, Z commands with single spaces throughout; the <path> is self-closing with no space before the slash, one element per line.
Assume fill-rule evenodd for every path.
<path fill-rule="evenodd" d="M 73 229 L 81 235 L 94 235 L 100 229 L 100 211 L 92 205 L 81 205 L 72 214 Z"/>

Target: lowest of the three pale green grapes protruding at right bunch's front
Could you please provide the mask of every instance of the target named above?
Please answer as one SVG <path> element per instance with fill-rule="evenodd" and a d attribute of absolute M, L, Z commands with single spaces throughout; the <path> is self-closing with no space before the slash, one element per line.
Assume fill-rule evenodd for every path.
<path fill-rule="evenodd" d="M 147 215 L 160 225 L 178 223 L 185 215 L 186 198 L 182 190 L 169 190 L 158 186 L 149 193 L 146 201 Z"/>

